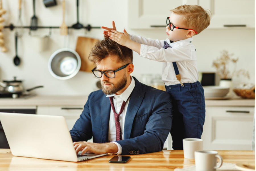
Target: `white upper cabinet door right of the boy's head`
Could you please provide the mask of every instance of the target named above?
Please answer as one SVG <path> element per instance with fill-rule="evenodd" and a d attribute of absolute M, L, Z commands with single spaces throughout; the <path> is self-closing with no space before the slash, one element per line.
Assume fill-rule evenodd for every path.
<path fill-rule="evenodd" d="M 255 28 L 255 0 L 199 0 L 199 5 L 212 13 L 208 28 Z"/>

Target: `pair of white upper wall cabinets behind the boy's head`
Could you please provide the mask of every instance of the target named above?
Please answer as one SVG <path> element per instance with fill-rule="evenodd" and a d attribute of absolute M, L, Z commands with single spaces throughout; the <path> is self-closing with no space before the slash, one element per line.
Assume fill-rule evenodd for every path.
<path fill-rule="evenodd" d="M 134 29 L 166 27 L 170 9 L 184 4 L 209 9 L 212 19 L 208 28 L 255 28 L 254 0 L 129 0 L 128 26 Z"/>

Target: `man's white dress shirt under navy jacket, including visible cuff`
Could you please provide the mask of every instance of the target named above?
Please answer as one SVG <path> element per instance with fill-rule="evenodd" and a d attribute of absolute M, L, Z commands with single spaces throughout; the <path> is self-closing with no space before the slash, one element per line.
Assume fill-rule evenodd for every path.
<path fill-rule="evenodd" d="M 125 124 L 125 115 L 126 115 L 127 107 L 128 107 L 129 100 L 130 100 L 129 96 L 131 95 L 131 92 L 133 91 L 134 87 L 135 87 L 135 81 L 134 81 L 133 77 L 131 77 L 131 84 L 125 89 L 125 91 L 123 91 L 122 94 L 106 95 L 106 97 L 113 96 L 113 103 L 114 103 L 116 113 L 119 113 L 123 101 L 126 101 L 125 108 L 123 109 L 123 112 L 119 116 L 122 140 L 123 140 L 123 128 L 124 128 L 124 124 Z M 114 112 L 113 112 L 112 108 L 110 108 L 108 141 L 117 144 L 118 152 L 116 154 L 120 155 L 122 153 L 122 147 L 120 144 L 115 142 L 115 116 L 114 116 Z"/>

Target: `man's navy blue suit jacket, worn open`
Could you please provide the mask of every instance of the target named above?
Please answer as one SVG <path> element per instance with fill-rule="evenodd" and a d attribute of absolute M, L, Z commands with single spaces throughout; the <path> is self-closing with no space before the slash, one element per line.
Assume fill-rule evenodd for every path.
<path fill-rule="evenodd" d="M 121 155 L 161 151 L 172 126 L 170 94 L 146 86 L 135 77 L 125 117 L 124 139 L 116 141 L 122 147 Z M 110 100 L 102 90 L 88 96 L 84 110 L 70 131 L 73 142 L 108 142 Z"/>

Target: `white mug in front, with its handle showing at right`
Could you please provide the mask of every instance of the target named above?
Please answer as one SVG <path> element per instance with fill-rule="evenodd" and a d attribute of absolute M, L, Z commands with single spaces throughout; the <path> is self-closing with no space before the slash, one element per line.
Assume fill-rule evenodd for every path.
<path fill-rule="evenodd" d="M 217 165 L 217 158 L 220 162 Z M 217 151 L 195 151 L 196 171 L 216 171 L 223 163 L 223 159 Z"/>

